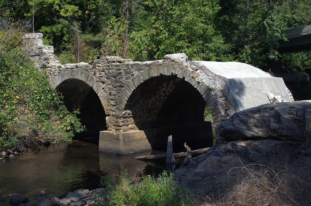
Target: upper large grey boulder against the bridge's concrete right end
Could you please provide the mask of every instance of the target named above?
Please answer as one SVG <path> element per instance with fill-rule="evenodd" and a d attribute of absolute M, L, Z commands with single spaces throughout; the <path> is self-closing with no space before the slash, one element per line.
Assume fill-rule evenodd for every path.
<path fill-rule="evenodd" d="M 264 104 L 234 113 L 219 128 L 226 140 L 281 139 L 304 142 L 311 136 L 311 100 Z"/>

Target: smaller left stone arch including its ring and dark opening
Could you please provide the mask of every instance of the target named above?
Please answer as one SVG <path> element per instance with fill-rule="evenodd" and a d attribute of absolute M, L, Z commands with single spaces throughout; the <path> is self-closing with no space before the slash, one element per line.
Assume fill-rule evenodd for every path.
<path fill-rule="evenodd" d="M 100 99 L 100 86 L 90 75 L 83 72 L 60 73 L 51 80 L 51 85 L 63 94 L 63 101 L 68 110 L 80 109 L 77 117 L 81 119 L 81 124 L 85 125 L 86 131 L 77 133 L 75 138 L 99 137 L 100 131 L 107 130 L 107 110 Z"/>

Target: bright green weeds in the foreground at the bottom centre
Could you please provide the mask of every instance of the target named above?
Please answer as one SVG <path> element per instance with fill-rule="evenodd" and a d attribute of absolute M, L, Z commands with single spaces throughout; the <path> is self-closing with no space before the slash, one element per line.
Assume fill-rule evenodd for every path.
<path fill-rule="evenodd" d="M 173 175 L 164 171 L 157 178 L 147 175 L 132 183 L 126 172 L 120 176 L 118 182 L 107 176 L 101 178 L 105 192 L 100 194 L 102 201 L 99 205 L 187 205 L 190 202 L 189 192 L 176 187 Z"/>

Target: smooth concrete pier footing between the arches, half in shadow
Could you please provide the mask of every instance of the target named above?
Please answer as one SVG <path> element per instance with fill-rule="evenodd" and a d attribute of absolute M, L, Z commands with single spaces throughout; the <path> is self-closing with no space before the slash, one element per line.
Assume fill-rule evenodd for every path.
<path fill-rule="evenodd" d="M 184 152 L 185 142 L 193 150 L 213 144 L 211 122 L 199 122 L 130 132 L 101 131 L 99 151 L 125 155 L 151 149 L 166 150 L 169 135 L 173 137 L 174 152 Z"/>

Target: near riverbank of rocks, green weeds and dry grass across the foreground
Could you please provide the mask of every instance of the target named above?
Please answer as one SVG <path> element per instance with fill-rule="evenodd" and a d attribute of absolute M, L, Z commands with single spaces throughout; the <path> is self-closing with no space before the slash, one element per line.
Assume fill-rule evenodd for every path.
<path fill-rule="evenodd" d="M 85 187 L 86 184 L 81 184 L 80 188 L 87 189 L 65 190 L 65 194 L 61 195 L 47 188 L 48 190 L 41 192 L 36 191 L 35 198 L 29 198 L 30 203 L 27 206 L 148 205 L 135 202 L 138 201 L 135 196 L 143 194 L 147 189 L 153 191 L 146 193 L 150 198 L 158 194 L 158 200 L 169 202 L 173 199 L 167 198 L 174 197 L 174 204 L 163 204 L 170 206 L 232 206 L 247 205 L 250 202 L 249 205 L 310 205 L 310 162 L 311 150 L 306 144 L 293 146 L 280 140 L 237 140 L 217 144 L 206 154 L 193 158 L 188 166 L 181 166 L 174 171 L 173 176 L 163 177 L 162 174 L 162 178 L 155 180 L 148 175 L 127 176 L 124 175 L 126 172 L 120 172 L 118 176 L 121 178 L 105 176 L 101 181 L 98 180 L 96 188 L 102 186 L 105 190 L 91 190 L 90 187 Z M 147 180 L 147 184 L 143 183 L 144 180 Z M 99 185 L 100 182 L 104 185 Z M 94 195 L 94 191 L 98 190 L 104 191 L 100 199 L 104 203 L 94 199 L 95 195 L 98 197 L 98 194 Z M 21 197 L 24 196 L 19 196 Z M 3 196 L 0 201 L 2 199 Z M 13 201 L 14 198 L 11 199 Z M 8 198 L 3 204 L 11 205 Z M 26 205 L 25 202 L 19 204 Z"/>

